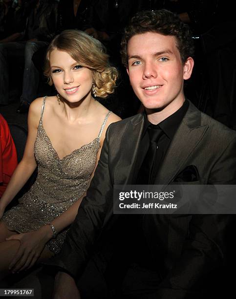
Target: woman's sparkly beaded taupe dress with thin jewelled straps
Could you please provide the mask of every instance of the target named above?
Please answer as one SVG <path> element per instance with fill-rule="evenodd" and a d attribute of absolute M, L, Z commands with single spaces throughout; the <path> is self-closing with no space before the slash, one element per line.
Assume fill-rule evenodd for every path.
<path fill-rule="evenodd" d="M 43 128 L 45 101 L 46 97 L 43 98 L 34 145 L 38 163 L 37 179 L 30 190 L 19 199 L 19 204 L 7 211 L 1 219 L 10 230 L 19 233 L 35 231 L 51 222 L 87 190 L 96 165 L 100 137 L 111 113 L 107 113 L 97 138 L 60 159 Z M 60 251 L 67 229 L 46 244 L 52 252 Z"/>

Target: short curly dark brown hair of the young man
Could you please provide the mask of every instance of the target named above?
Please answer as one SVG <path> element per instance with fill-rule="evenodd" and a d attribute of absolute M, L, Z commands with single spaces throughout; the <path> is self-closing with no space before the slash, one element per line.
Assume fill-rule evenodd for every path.
<path fill-rule="evenodd" d="M 162 35 L 172 35 L 176 39 L 182 63 L 188 57 L 193 57 L 194 43 L 189 26 L 179 17 L 166 9 L 138 12 L 130 20 L 121 42 L 121 56 L 123 64 L 128 67 L 128 42 L 134 35 L 146 32 L 156 32 Z"/>

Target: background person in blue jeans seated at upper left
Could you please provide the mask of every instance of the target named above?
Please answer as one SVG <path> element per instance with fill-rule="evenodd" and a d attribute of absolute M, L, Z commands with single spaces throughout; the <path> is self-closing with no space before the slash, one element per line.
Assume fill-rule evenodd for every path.
<path fill-rule="evenodd" d="M 32 56 L 39 48 L 48 45 L 55 35 L 57 26 L 58 2 L 54 0 L 34 0 L 27 3 L 30 13 L 25 30 L 17 36 L 9 37 L 11 42 L 0 43 L 0 104 L 9 100 L 8 60 L 24 59 L 23 85 L 18 113 L 25 113 L 30 103 L 37 97 L 39 72 L 32 62 Z M 10 70 L 11 71 L 11 70 Z"/>

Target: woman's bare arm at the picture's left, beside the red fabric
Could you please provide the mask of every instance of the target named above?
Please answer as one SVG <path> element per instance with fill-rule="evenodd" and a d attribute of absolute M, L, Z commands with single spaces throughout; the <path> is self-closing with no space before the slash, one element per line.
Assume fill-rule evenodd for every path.
<path fill-rule="evenodd" d="M 40 120 L 42 100 L 37 99 L 30 105 L 28 114 L 28 136 L 21 162 L 15 169 L 10 182 L 0 200 L 0 218 L 6 206 L 12 201 L 15 195 L 27 182 L 37 164 L 34 157 L 34 143 L 37 136 L 37 129 Z"/>

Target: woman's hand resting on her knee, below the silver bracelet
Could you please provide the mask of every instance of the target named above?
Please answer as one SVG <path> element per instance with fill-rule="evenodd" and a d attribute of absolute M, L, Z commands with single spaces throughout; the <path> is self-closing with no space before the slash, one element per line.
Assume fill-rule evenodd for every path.
<path fill-rule="evenodd" d="M 49 225 L 45 225 L 37 231 L 12 235 L 6 240 L 19 240 L 21 245 L 9 265 L 12 273 L 32 267 L 40 257 L 45 244 L 52 237 L 52 230 Z"/>

